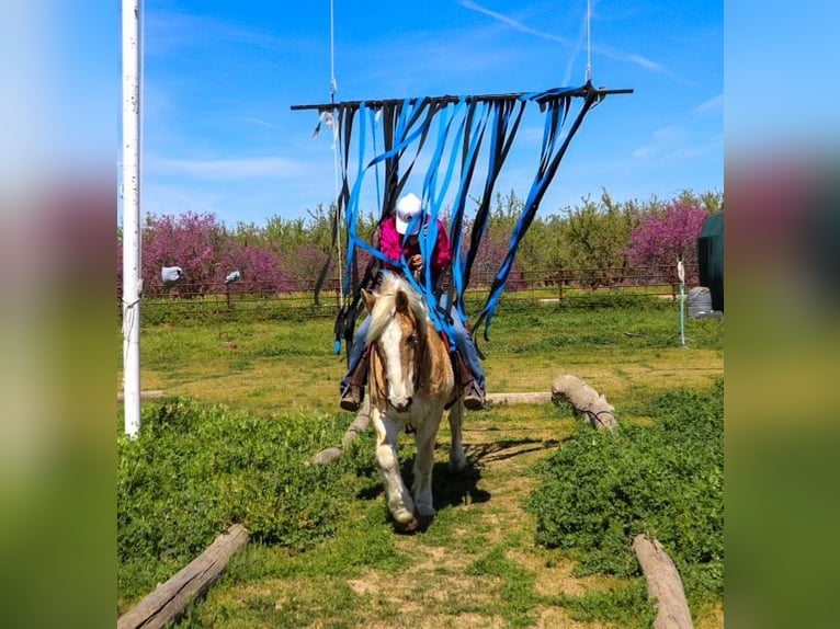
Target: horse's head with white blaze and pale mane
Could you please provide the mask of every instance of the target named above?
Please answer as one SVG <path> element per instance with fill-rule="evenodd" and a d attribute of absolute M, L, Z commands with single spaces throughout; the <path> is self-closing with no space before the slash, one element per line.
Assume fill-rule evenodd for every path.
<path fill-rule="evenodd" d="M 365 293 L 365 305 L 371 317 L 367 343 L 381 364 L 371 396 L 385 398 L 398 412 L 408 411 L 422 373 L 425 308 L 411 286 L 393 274 L 385 275 L 378 293 Z"/>

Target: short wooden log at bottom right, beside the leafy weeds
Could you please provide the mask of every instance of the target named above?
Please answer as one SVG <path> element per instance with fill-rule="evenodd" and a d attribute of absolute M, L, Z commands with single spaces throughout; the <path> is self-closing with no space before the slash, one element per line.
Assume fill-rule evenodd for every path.
<path fill-rule="evenodd" d="M 652 629 L 693 629 L 680 573 L 659 540 L 639 534 L 633 551 L 647 579 L 648 598 L 657 606 Z"/>

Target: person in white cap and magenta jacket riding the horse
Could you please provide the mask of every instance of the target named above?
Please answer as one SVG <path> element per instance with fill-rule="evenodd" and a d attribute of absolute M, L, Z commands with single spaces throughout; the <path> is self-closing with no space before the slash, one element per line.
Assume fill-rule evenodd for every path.
<path fill-rule="evenodd" d="M 415 274 L 420 273 L 423 270 L 424 261 L 420 254 L 418 235 L 421 224 L 428 222 L 430 218 L 423 213 L 422 203 L 417 195 L 409 193 L 400 197 L 397 202 L 396 211 L 379 226 L 379 251 L 395 261 L 405 255 L 409 270 Z M 438 240 L 434 243 L 431 260 L 433 285 L 436 285 L 438 278 L 451 261 L 450 239 L 443 222 L 438 219 Z M 396 273 L 402 271 L 400 266 L 390 263 L 385 263 L 385 267 Z M 359 327 L 350 346 L 349 369 L 340 385 L 341 399 L 339 403 L 345 411 L 357 411 L 364 399 L 364 384 L 367 379 L 365 336 L 370 323 L 371 318 L 368 317 Z M 452 323 L 457 350 L 455 365 L 464 388 L 464 405 L 469 410 L 483 409 L 486 381 L 478 351 L 457 313 L 453 313 Z"/>

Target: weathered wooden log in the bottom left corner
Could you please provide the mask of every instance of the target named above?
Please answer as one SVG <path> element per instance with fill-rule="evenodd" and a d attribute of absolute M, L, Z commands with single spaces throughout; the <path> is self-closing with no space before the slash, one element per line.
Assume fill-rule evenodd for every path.
<path fill-rule="evenodd" d="M 247 542 L 246 528 L 232 525 L 178 574 L 123 614 L 116 621 L 117 629 L 159 629 L 178 619 L 193 598 L 206 594 L 230 558 Z"/>

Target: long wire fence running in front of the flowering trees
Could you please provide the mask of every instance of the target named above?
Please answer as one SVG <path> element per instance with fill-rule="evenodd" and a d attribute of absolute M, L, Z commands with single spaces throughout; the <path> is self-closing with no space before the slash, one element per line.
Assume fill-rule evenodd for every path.
<path fill-rule="evenodd" d="M 484 304 L 493 281 L 492 273 L 473 272 L 465 301 L 469 312 L 476 312 Z M 697 285 L 696 265 L 685 266 L 686 285 Z M 315 278 L 297 282 L 292 290 L 275 291 L 270 286 L 246 290 L 232 284 L 190 284 L 185 282 L 169 289 L 162 296 L 144 298 L 141 317 L 146 323 L 194 320 L 202 322 L 213 318 L 257 318 L 306 320 L 334 317 L 341 304 L 338 277 L 326 282 L 319 295 L 315 295 Z M 449 289 L 444 278 L 443 288 Z M 679 279 L 674 266 L 644 266 L 614 268 L 555 268 L 532 271 L 512 275 L 502 298 L 509 307 L 531 304 L 565 304 L 574 307 L 576 300 L 593 297 L 605 304 L 616 299 L 674 300 L 679 296 Z M 120 301 L 117 310 L 122 314 Z"/>

